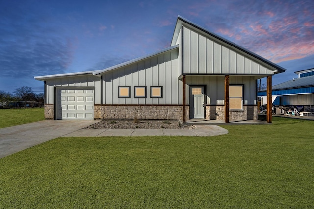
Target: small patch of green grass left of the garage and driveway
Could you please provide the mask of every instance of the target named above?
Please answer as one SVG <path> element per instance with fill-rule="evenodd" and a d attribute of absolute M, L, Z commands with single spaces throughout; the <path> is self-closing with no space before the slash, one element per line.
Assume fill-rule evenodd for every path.
<path fill-rule="evenodd" d="M 0 109 L 0 128 L 44 119 L 44 108 Z"/>

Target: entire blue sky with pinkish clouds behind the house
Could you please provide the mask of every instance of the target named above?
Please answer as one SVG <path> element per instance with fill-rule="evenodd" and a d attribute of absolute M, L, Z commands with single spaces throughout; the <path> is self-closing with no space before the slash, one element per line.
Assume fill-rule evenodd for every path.
<path fill-rule="evenodd" d="M 178 15 L 286 68 L 273 85 L 314 68 L 314 0 L 0 0 L 0 90 L 167 48 Z"/>

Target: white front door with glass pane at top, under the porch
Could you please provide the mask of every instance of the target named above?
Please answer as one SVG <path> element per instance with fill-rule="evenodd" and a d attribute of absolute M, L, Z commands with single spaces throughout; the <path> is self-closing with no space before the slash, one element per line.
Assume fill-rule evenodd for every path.
<path fill-rule="evenodd" d="M 190 118 L 204 119 L 205 94 L 203 86 L 190 87 Z"/>

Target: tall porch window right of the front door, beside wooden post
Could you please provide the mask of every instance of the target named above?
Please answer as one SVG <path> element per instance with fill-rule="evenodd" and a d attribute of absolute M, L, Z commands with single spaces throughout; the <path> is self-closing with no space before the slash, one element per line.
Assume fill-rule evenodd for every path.
<path fill-rule="evenodd" d="M 229 109 L 243 110 L 243 85 L 229 86 Z"/>

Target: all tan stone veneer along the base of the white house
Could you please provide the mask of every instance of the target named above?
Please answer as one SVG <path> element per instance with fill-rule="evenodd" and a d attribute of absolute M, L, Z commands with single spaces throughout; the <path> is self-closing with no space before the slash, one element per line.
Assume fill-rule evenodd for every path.
<path fill-rule="evenodd" d="M 189 119 L 189 106 L 185 118 Z M 257 106 L 229 111 L 230 121 L 257 120 Z M 182 120 L 182 105 L 94 105 L 94 119 Z M 224 120 L 225 106 L 206 106 L 207 120 Z M 45 119 L 54 119 L 54 105 L 45 104 Z"/>

